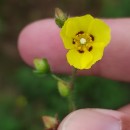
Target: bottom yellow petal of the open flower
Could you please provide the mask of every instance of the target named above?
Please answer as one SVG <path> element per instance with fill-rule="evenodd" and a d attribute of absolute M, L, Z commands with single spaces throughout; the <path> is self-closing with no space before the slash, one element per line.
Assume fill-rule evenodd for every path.
<path fill-rule="evenodd" d="M 91 67 L 93 56 L 88 51 L 80 53 L 76 49 L 72 49 L 67 53 L 67 61 L 77 69 L 85 69 Z"/>

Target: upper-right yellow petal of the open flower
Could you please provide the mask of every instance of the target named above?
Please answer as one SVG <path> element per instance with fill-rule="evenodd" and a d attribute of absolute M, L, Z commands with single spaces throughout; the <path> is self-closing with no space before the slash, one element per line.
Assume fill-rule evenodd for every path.
<path fill-rule="evenodd" d="M 94 42 L 102 42 L 104 46 L 110 42 L 110 27 L 100 19 L 92 22 L 88 32 L 94 36 Z"/>

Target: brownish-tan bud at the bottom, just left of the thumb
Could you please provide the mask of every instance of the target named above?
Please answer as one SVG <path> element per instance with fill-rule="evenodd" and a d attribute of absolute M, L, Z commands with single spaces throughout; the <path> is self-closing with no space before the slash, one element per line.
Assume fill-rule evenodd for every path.
<path fill-rule="evenodd" d="M 51 117 L 51 116 L 43 116 L 42 119 L 43 119 L 43 123 L 44 123 L 46 129 L 54 130 L 55 128 L 57 128 L 57 126 L 58 126 L 57 118 Z"/>

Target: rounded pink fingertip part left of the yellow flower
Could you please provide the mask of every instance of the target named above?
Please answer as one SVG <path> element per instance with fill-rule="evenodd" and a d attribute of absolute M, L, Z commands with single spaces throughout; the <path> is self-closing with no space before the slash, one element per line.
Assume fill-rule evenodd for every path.
<path fill-rule="evenodd" d="M 60 63 L 67 64 L 59 31 L 54 19 L 40 20 L 26 26 L 18 38 L 18 50 L 22 59 L 32 66 L 34 58 L 46 58 L 52 71 L 63 71 L 62 67 L 57 67 Z"/>

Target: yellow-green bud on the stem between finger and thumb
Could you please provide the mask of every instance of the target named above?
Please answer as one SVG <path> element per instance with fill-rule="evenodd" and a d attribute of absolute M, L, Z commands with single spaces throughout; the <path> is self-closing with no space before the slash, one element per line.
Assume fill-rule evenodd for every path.
<path fill-rule="evenodd" d="M 58 90 L 62 97 L 67 97 L 70 92 L 70 88 L 68 86 L 68 83 L 63 81 L 58 81 Z"/>

